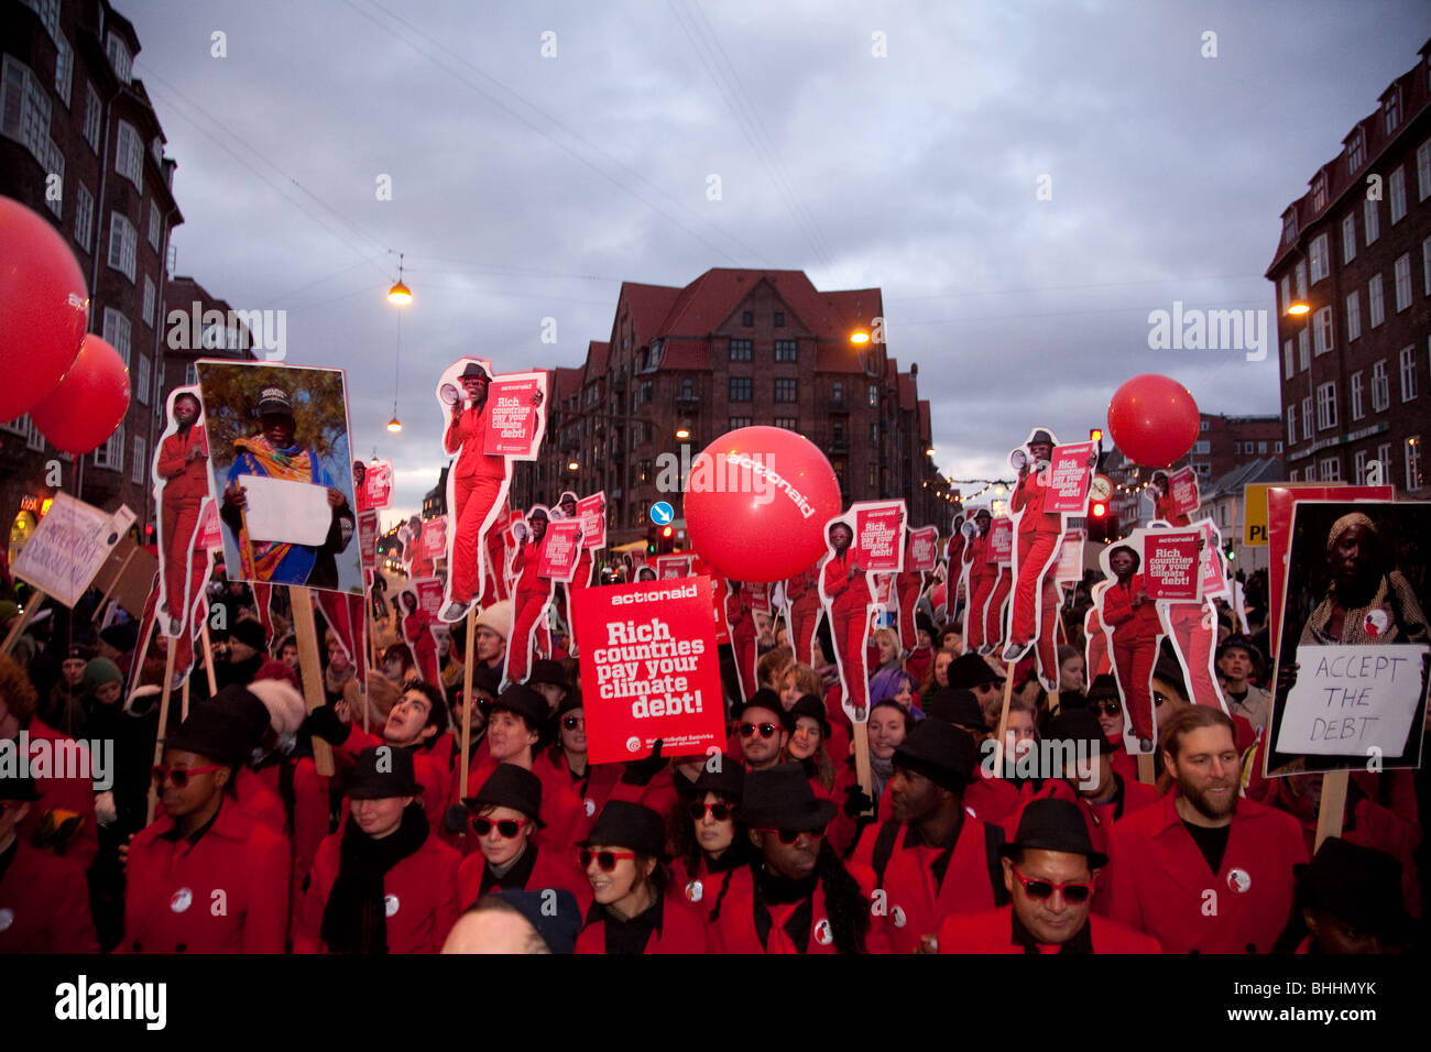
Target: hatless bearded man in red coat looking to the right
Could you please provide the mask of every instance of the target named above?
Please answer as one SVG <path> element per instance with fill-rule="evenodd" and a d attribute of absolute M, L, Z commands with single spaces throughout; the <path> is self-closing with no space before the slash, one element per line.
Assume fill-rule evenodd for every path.
<path fill-rule="evenodd" d="M 1166 953 L 1268 953 L 1292 916 L 1302 830 L 1291 814 L 1239 799 L 1234 733 L 1218 708 L 1176 711 L 1162 754 L 1178 792 L 1125 816 L 1109 839 L 1109 916 Z"/>

